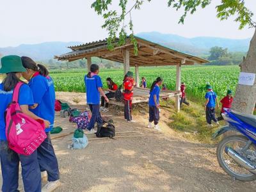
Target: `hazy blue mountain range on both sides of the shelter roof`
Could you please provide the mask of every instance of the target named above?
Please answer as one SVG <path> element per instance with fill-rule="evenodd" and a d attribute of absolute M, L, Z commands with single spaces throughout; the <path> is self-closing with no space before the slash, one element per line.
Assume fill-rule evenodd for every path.
<path fill-rule="evenodd" d="M 228 48 L 230 52 L 247 52 L 250 44 L 250 38 L 228 39 L 211 36 L 186 38 L 184 36 L 163 34 L 156 31 L 138 33 L 136 36 L 196 56 L 209 54 L 209 50 L 214 46 Z M 17 47 L 0 47 L 0 55 L 26 55 L 36 61 L 48 61 L 51 60 L 54 55 L 60 55 L 70 51 L 67 46 L 78 44 L 82 44 L 82 42 L 44 42 L 42 44 L 33 45 L 22 44 Z"/>

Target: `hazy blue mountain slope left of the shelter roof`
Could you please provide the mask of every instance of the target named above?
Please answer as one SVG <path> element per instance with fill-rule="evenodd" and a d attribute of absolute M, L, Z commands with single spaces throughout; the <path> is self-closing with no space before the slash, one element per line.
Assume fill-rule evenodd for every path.
<path fill-rule="evenodd" d="M 63 54 L 70 51 L 67 46 L 78 45 L 81 42 L 44 42 L 42 44 L 19 45 L 18 47 L 0 48 L 0 54 L 16 54 L 19 56 L 29 56 L 36 61 L 51 60 L 54 55 Z"/>

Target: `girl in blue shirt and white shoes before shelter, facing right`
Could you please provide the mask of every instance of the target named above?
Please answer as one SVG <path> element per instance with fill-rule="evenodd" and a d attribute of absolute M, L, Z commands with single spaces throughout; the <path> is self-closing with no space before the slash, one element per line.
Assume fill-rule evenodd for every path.
<path fill-rule="evenodd" d="M 149 122 L 148 128 L 153 128 L 152 122 L 154 121 L 154 129 L 157 131 L 161 131 L 158 126 L 159 122 L 159 94 L 160 94 L 160 86 L 163 83 L 163 79 L 161 77 L 157 77 L 156 81 L 154 81 L 150 88 L 150 97 L 148 101 L 149 106 Z"/>

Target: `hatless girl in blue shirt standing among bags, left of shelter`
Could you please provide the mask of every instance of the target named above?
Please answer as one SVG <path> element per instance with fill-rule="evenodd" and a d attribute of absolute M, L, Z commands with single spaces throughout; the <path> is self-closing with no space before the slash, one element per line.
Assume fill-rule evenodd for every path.
<path fill-rule="evenodd" d="M 104 94 L 102 90 L 102 81 L 100 79 L 99 74 L 99 66 L 96 64 L 92 64 L 90 67 L 90 72 L 84 77 L 84 83 L 86 86 L 86 100 L 87 104 L 92 111 L 92 117 L 90 123 L 87 127 L 88 133 L 87 134 L 94 134 L 95 131 L 94 125 L 95 122 L 97 124 L 102 124 L 103 120 L 100 116 L 100 94 L 106 102 L 109 102 L 108 97 Z"/>

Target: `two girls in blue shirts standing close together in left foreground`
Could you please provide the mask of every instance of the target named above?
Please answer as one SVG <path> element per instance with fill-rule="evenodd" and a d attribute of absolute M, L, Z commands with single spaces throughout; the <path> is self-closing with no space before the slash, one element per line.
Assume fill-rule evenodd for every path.
<path fill-rule="evenodd" d="M 54 84 L 47 69 L 26 56 L 1 58 L 0 74 L 6 74 L 0 83 L 0 158 L 3 192 L 19 191 L 19 163 L 25 191 L 53 191 L 60 186 L 58 161 L 52 147 L 49 131 L 54 124 Z M 23 77 L 19 105 L 22 113 L 35 120 L 43 120 L 47 138 L 30 156 L 17 154 L 8 147 L 4 112 L 12 102 L 13 89 Z M 42 188 L 42 177 L 47 184 Z M 44 179 L 44 178 L 43 178 Z"/>

